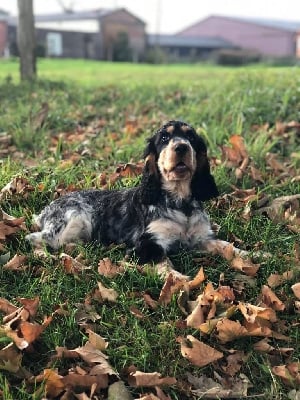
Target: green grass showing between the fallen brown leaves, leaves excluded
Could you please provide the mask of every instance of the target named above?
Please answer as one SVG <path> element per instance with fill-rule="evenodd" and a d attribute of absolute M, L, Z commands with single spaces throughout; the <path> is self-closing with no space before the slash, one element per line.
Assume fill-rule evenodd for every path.
<path fill-rule="evenodd" d="M 182 119 L 195 126 L 208 142 L 212 157 L 220 158 L 220 146 L 227 143 L 232 134 L 241 134 L 250 156 L 267 173 L 266 182 L 259 187 L 261 191 L 271 198 L 300 192 L 297 181 L 285 180 L 278 185 L 264 161 L 265 154 L 271 151 L 279 157 L 286 157 L 285 160 L 292 160 L 299 168 L 299 158 L 289 158 L 289 154 L 299 151 L 296 134 L 290 141 L 280 136 L 270 140 L 263 129 L 255 132 L 251 129 L 254 124 L 269 123 L 272 127 L 276 121 L 300 120 L 300 69 L 40 60 L 39 81 L 33 85 L 20 84 L 17 70 L 17 62 L 1 62 L 0 133 L 11 136 L 11 147 L 7 154 L 3 152 L 0 187 L 18 174 L 27 177 L 35 190 L 28 196 L 2 200 L 1 207 L 11 215 L 25 215 L 28 227 L 32 214 L 49 203 L 58 186 L 97 186 L 101 172 L 110 174 L 118 164 L 139 161 L 145 139 L 169 119 Z M 49 104 L 47 119 L 42 127 L 35 128 L 34 118 L 44 102 Z M 134 129 L 130 128 L 132 121 Z M 70 136 L 74 132 L 82 134 L 79 141 Z M 0 150 L 5 150 L 5 146 L 7 144 Z M 221 194 L 232 191 L 232 185 L 242 188 L 257 186 L 248 176 L 237 182 L 234 172 L 223 164 L 215 167 L 213 173 Z M 138 178 L 127 178 L 115 186 L 131 186 L 137 182 Z M 244 222 L 238 209 L 227 212 L 212 204 L 207 204 L 207 208 L 212 219 L 221 225 L 222 238 L 228 239 L 228 232 L 234 232 L 250 248 L 263 241 L 264 250 L 273 254 L 272 259 L 259 270 L 257 285 L 246 289 L 247 301 L 255 302 L 271 273 L 281 273 L 290 268 L 283 255 L 292 254 L 299 236 L 265 217 L 255 216 Z M 40 296 L 41 316 L 49 315 L 57 305 L 65 302 L 69 311 L 49 325 L 33 353 L 25 352 L 23 365 L 37 375 L 46 368 L 56 346 L 72 349 L 86 341 L 84 331 L 76 322 L 78 304 L 83 303 L 99 280 L 99 259 L 122 260 L 124 249 L 76 246 L 73 255 L 81 252 L 85 264 L 92 267 L 90 275 L 82 273 L 76 278 L 65 274 L 57 262 L 38 259 L 23 237 L 24 234 L 20 233 L 7 243 L 7 251 L 11 255 L 27 255 L 29 268 L 18 273 L 0 269 L 0 296 L 14 303 L 16 298 Z M 195 257 L 199 254 L 182 253 L 174 262 L 183 272 L 193 275 L 199 269 Z M 220 273 L 225 274 L 228 282 L 234 278 L 234 272 L 228 269 L 224 260 L 209 258 L 208 261 L 205 273 L 214 285 L 218 284 Z M 42 276 L 35 275 L 37 266 L 44 268 Z M 203 372 L 180 355 L 176 337 L 195 334 L 199 338 L 199 333 L 176 327 L 175 321 L 184 319 L 176 299 L 169 306 L 153 311 L 135 297 L 137 292 L 146 291 L 157 298 L 163 283 L 159 277 L 151 273 L 144 276 L 129 269 L 113 280 L 104 279 L 103 283 L 119 293 L 116 304 L 96 305 L 101 316 L 97 322 L 99 333 L 109 341 L 107 354 L 118 372 L 131 364 L 142 371 L 158 371 L 163 376 L 176 376 L 179 380 L 185 380 L 187 371 L 194 375 Z M 284 298 L 291 297 L 288 285 L 280 290 Z M 139 307 L 146 318 L 138 320 L 132 315 L 131 305 Z M 281 315 L 283 320 L 293 318 L 288 312 Z M 297 326 L 290 329 L 289 336 L 291 347 L 296 349 L 292 360 L 299 360 Z M 208 337 L 205 341 L 214 345 L 215 339 Z M 243 339 L 233 344 L 234 348 L 249 354 L 242 372 L 253 384 L 250 394 L 263 394 L 264 399 L 288 399 L 289 389 L 272 374 L 270 359 L 253 351 L 254 341 L 253 338 Z M 285 363 L 285 359 L 278 362 Z M 64 361 L 58 361 L 56 367 L 67 368 Z M 206 367 L 204 372 L 212 374 L 213 367 Z M 9 373 L 0 376 L 0 387 L 5 399 L 32 398 L 22 382 Z M 141 391 L 136 389 L 133 393 L 138 397 Z M 191 398 L 177 387 L 170 388 L 168 393 L 172 399 Z"/>

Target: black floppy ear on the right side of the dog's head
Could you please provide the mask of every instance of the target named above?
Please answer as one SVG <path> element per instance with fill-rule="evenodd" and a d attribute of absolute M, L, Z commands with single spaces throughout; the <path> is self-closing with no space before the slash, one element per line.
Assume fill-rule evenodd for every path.
<path fill-rule="evenodd" d="M 197 168 L 192 182 L 192 196 L 199 201 L 210 200 L 219 194 L 214 177 L 210 173 L 210 165 L 206 152 L 197 155 Z"/>

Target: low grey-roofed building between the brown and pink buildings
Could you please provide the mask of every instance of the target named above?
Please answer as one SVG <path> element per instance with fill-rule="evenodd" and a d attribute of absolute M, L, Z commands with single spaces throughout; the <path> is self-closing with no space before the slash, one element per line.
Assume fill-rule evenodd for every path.
<path fill-rule="evenodd" d="M 179 35 L 147 35 L 148 49 L 160 48 L 168 61 L 206 60 L 220 49 L 232 49 L 235 46 L 219 37 L 179 36 Z"/>

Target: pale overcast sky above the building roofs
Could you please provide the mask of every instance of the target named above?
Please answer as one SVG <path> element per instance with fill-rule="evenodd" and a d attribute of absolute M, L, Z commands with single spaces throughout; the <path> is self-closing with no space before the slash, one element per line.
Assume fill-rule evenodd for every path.
<path fill-rule="evenodd" d="M 60 2 L 75 10 L 125 7 L 151 33 L 175 33 L 211 14 L 300 21 L 299 0 L 34 0 L 35 13 L 61 11 Z M 17 0 L 1 0 L 0 8 L 16 15 Z"/>

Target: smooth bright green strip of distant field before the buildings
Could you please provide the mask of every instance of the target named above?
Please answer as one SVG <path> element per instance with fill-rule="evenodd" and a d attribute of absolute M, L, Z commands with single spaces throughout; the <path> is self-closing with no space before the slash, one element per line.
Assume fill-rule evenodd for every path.
<path fill-rule="evenodd" d="M 177 81 L 183 84 L 197 79 L 211 80 L 214 77 L 234 76 L 236 73 L 251 71 L 251 73 L 262 72 L 263 74 L 284 74 L 288 75 L 293 70 L 299 74 L 300 68 L 297 67 L 265 67 L 264 65 L 253 65 L 247 67 L 220 67 L 205 64 L 169 64 L 169 65 L 149 65 L 149 64 L 129 64 L 98 62 L 90 60 L 49 60 L 39 59 L 38 77 L 40 79 L 76 81 L 82 84 L 102 85 L 102 84 L 162 84 Z M 11 75 L 15 82 L 18 81 L 18 60 L 0 61 L 0 78 Z"/>

